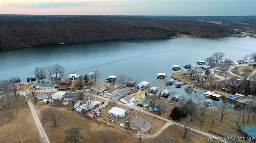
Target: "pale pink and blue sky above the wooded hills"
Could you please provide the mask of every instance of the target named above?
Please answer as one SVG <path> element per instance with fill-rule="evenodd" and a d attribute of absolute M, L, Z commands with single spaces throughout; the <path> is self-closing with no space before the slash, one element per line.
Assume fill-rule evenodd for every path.
<path fill-rule="evenodd" d="M 1 14 L 252 16 L 256 0 L 2 0 Z"/>

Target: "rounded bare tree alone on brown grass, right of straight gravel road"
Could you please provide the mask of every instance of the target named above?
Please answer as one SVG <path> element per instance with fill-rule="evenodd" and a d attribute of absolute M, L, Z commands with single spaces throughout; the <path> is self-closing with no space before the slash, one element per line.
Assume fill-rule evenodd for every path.
<path fill-rule="evenodd" d="M 45 124 L 53 123 L 54 127 L 57 127 L 58 122 L 62 122 L 64 120 L 64 116 L 62 112 L 59 111 L 59 108 L 51 107 L 48 108 L 45 112 L 43 112 L 42 121 Z"/>

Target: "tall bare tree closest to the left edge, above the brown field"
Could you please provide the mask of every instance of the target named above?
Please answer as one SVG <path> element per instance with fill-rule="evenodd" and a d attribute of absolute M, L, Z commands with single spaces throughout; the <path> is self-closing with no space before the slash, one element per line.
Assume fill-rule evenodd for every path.
<path fill-rule="evenodd" d="M 8 105 L 8 108 L 11 108 L 11 104 L 12 104 L 12 99 L 13 99 L 13 95 L 12 95 L 12 82 L 10 80 L 1 80 L 1 89 L 2 92 L 4 94 L 4 99 L 2 100 L 2 102 L 4 102 L 4 104 Z"/>

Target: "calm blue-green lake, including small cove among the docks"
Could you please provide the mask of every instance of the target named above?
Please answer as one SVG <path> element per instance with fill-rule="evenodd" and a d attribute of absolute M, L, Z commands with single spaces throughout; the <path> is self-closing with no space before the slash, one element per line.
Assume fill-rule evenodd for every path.
<path fill-rule="evenodd" d="M 65 67 L 64 78 L 70 73 L 88 74 L 98 70 L 107 76 L 125 74 L 138 82 L 152 83 L 157 73 L 171 75 L 171 65 L 183 65 L 204 60 L 214 52 L 225 53 L 224 58 L 241 60 L 244 55 L 256 52 L 256 38 L 250 37 L 183 37 L 176 39 L 139 39 L 100 41 L 1 50 L 1 80 L 18 76 L 26 82 L 35 67 L 59 64 Z M 37 81 L 37 80 L 36 80 Z M 152 85 L 152 84 L 151 84 Z M 187 94 L 186 86 L 170 90 Z"/>

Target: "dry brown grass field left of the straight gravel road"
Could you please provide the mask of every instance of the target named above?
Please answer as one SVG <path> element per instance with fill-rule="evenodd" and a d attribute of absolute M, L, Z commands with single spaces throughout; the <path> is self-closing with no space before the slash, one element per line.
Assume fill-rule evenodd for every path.
<path fill-rule="evenodd" d="M 34 118 L 28 106 L 25 106 L 23 96 L 12 100 L 11 108 L 1 104 L 1 143 L 40 143 L 42 138 L 38 132 Z M 22 105 L 22 106 L 21 106 Z"/>

